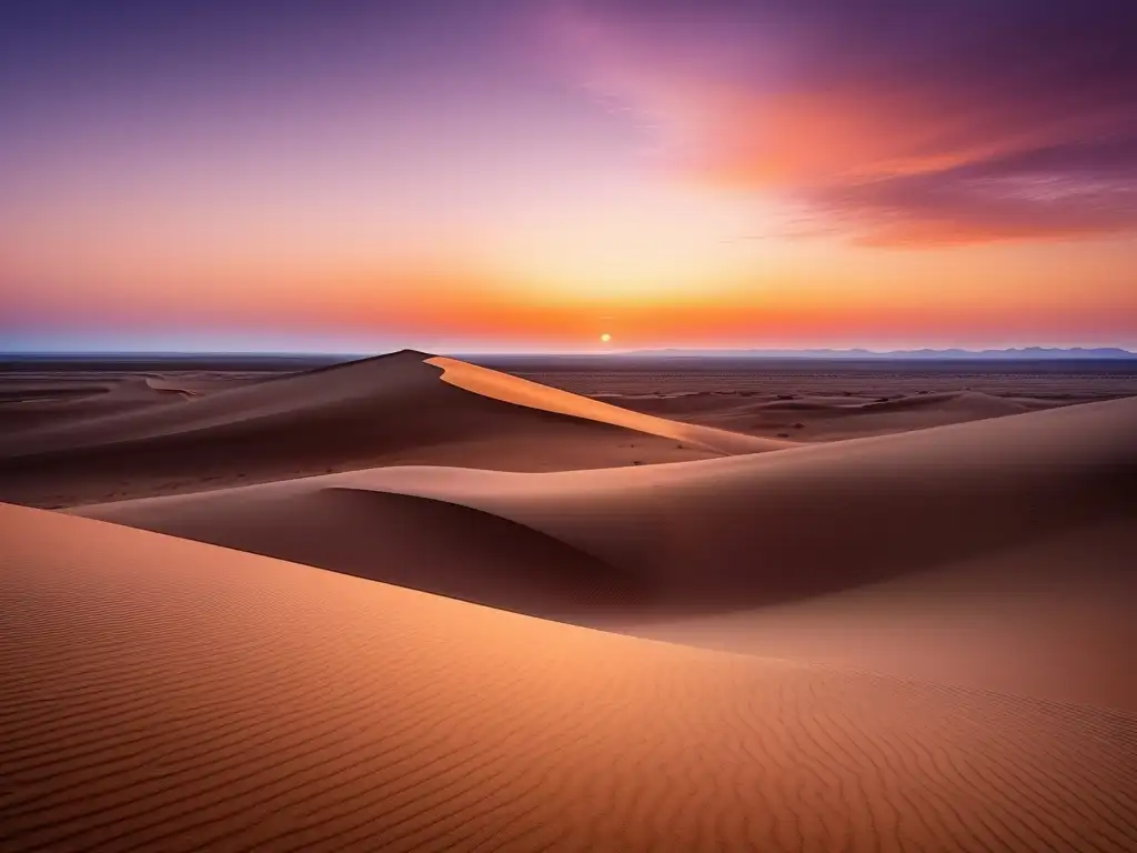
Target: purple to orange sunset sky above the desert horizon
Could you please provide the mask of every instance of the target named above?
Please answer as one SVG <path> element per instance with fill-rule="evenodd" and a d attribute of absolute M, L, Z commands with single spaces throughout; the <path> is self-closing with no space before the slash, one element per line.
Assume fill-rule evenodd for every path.
<path fill-rule="evenodd" d="M 1137 348 L 1131 0 L 0 6 L 0 351 Z"/>

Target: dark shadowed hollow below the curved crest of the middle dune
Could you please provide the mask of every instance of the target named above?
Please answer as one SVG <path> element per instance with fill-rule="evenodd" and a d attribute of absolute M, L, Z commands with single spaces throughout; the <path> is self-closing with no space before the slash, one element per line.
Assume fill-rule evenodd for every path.
<path fill-rule="evenodd" d="M 309 488 L 319 480 L 78 512 L 116 519 L 141 504 L 149 511 L 138 527 L 537 615 L 636 612 L 647 594 L 621 570 L 507 519 L 410 495 Z"/>

